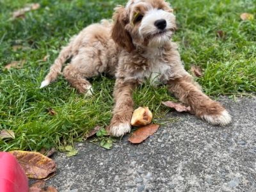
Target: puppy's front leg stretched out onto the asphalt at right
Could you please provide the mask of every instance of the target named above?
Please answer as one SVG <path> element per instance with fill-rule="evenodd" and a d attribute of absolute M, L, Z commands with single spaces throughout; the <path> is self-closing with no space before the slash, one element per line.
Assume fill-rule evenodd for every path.
<path fill-rule="evenodd" d="M 191 76 L 179 77 L 168 81 L 168 90 L 182 102 L 191 106 L 195 115 L 214 125 L 227 125 L 231 117 L 219 102 L 211 100 L 197 86 Z"/>

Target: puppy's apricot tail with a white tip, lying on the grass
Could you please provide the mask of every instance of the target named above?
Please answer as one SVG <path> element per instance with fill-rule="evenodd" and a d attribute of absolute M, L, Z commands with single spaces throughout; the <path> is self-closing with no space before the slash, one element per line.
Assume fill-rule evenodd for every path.
<path fill-rule="evenodd" d="M 56 58 L 54 64 L 51 66 L 50 72 L 41 83 L 40 88 L 43 88 L 52 83 L 52 81 L 56 80 L 58 75 L 61 74 L 62 65 L 65 63 L 65 61 L 67 61 L 68 58 L 70 58 L 70 56 L 72 56 L 72 41 L 67 45 L 67 47 L 63 47 L 58 58 Z"/>

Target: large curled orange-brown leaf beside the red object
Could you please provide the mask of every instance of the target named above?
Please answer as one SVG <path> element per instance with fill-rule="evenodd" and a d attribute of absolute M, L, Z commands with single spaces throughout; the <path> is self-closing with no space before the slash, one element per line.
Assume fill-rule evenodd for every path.
<path fill-rule="evenodd" d="M 10 154 L 16 157 L 30 179 L 44 179 L 56 171 L 56 163 L 38 152 L 13 150 Z"/>

